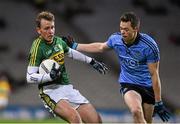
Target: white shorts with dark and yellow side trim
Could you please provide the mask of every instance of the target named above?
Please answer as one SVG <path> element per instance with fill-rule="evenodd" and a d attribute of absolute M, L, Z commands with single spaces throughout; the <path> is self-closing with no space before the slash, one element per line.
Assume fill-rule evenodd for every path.
<path fill-rule="evenodd" d="M 62 99 L 69 101 L 75 109 L 77 109 L 80 104 L 89 103 L 78 90 L 73 89 L 73 85 L 71 84 L 44 86 L 43 91 L 40 91 L 40 97 L 45 107 L 49 108 L 50 111 L 53 111 L 56 104 Z"/>

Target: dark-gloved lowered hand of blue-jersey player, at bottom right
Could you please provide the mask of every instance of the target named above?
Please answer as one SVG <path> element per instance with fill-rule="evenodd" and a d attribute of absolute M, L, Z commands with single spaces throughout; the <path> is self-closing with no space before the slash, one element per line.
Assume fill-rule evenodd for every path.
<path fill-rule="evenodd" d="M 163 122 L 168 122 L 170 118 L 170 113 L 167 111 L 162 101 L 155 103 L 154 114 L 158 114 Z"/>

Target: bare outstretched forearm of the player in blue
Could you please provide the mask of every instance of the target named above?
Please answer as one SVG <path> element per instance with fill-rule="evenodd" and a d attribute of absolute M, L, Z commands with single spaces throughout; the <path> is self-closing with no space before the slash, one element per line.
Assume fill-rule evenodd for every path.
<path fill-rule="evenodd" d="M 91 53 L 103 52 L 102 43 L 90 43 L 90 44 L 79 43 L 77 46 L 77 50 L 82 52 L 91 52 Z"/>

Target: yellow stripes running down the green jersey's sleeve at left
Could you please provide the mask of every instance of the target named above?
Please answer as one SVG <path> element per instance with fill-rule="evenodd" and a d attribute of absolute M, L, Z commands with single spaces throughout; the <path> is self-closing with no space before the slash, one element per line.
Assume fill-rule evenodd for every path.
<path fill-rule="evenodd" d="M 32 53 L 31 53 L 32 58 L 30 59 L 30 65 L 35 65 L 37 51 L 38 51 L 38 47 L 41 42 L 41 39 L 38 38 L 34 42 L 35 42 L 35 44 L 33 45 Z"/>

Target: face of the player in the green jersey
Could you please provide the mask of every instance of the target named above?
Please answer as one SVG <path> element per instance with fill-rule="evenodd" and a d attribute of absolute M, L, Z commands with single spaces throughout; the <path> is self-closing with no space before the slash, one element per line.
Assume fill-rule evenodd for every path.
<path fill-rule="evenodd" d="M 48 20 L 42 19 L 40 27 L 37 28 L 37 32 L 48 43 L 51 43 L 53 41 L 53 37 L 55 33 L 54 21 L 48 21 Z"/>

